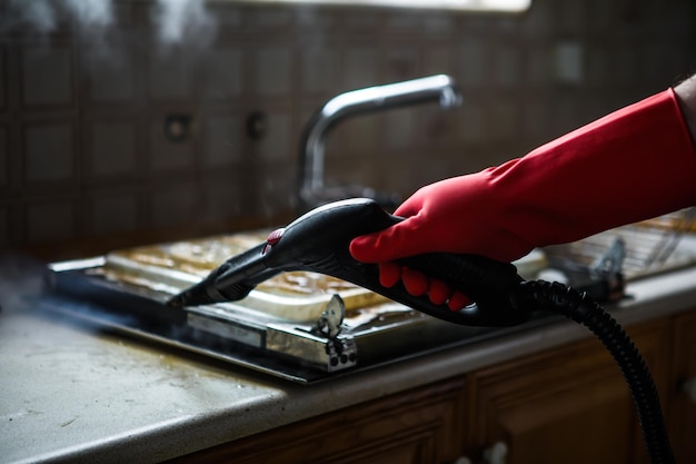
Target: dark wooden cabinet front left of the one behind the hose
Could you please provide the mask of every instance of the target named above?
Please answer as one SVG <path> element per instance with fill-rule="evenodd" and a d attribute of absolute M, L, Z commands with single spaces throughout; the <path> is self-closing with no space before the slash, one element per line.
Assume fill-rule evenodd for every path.
<path fill-rule="evenodd" d="M 173 462 L 417 464 L 460 453 L 464 379 L 453 378 L 279 427 Z"/>

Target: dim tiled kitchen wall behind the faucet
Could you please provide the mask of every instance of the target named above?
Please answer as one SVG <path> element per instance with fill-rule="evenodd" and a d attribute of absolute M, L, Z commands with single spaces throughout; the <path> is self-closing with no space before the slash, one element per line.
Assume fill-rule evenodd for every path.
<path fill-rule="evenodd" d="M 696 68 L 690 0 L 534 0 L 521 16 L 190 1 L 182 29 L 155 1 L 106 2 L 101 22 L 56 8 L 48 24 L 21 3 L 0 0 L 0 249 L 291 216 L 299 132 L 345 90 L 460 82 L 457 110 L 366 116 L 329 138 L 332 182 L 407 196 Z"/>

